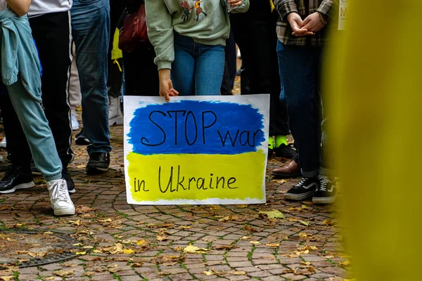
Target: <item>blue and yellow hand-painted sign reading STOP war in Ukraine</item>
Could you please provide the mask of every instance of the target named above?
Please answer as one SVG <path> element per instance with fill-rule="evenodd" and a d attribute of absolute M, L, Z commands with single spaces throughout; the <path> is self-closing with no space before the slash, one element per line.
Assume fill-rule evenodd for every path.
<path fill-rule="evenodd" d="M 124 97 L 129 204 L 265 200 L 269 95 Z"/>

